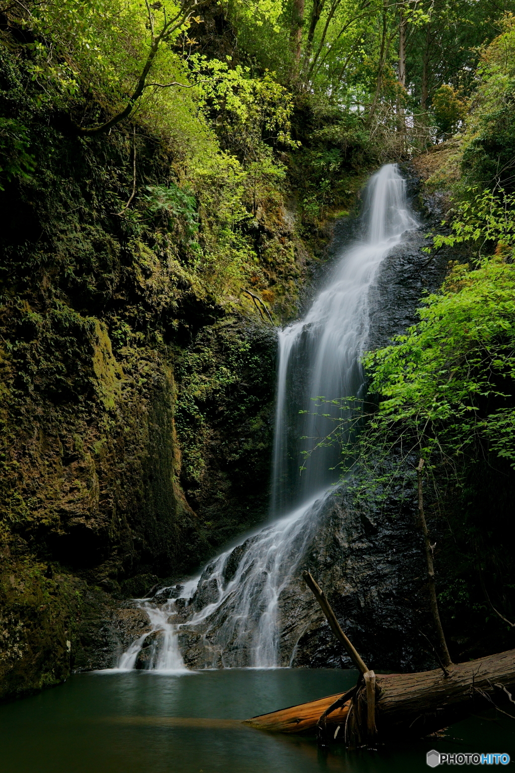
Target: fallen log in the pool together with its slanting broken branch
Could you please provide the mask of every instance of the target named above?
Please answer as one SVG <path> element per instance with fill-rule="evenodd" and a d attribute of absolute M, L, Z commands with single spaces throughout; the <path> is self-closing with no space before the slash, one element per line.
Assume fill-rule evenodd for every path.
<path fill-rule="evenodd" d="M 360 671 L 357 685 L 343 695 L 330 695 L 262 714 L 245 720 L 246 724 L 277 733 L 316 733 L 323 744 L 339 735 L 352 748 L 364 743 L 385 742 L 399 735 L 428 735 L 469 713 L 489 705 L 496 706 L 495 693 L 503 698 L 508 696 L 510 702 L 515 703 L 510 693 L 510 688 L 515 686 L 515 649 L 422 673 L 375 674 L 369 671 L 341 630 L 324 592 L 309 572 L 303 576 L 334 635 Z M 344 727 L 344 733 L 341 733 L 341 727 Z"/>

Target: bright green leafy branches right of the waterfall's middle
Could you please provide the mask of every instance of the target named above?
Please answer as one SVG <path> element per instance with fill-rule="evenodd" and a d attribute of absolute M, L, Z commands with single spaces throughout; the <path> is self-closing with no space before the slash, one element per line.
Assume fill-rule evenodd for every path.
<path fill-rule="evenodd" d="M 486 444 L 515 466 L 515 267 L 457 265 L 394 346 L 365 358 L 381 397 L 377 427 L 408 427 L 422 453 L 452 458 Z"/>

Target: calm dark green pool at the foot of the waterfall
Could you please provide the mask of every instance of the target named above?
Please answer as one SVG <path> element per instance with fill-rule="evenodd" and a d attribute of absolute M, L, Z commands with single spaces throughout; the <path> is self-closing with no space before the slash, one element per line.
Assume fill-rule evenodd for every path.
<path fill-rule="evenodd" d="M 446 738 L 353 753 L 337 744 L 322 751 L 310 739 L 227 721 L 342 692 L 355 679 L 353 671 L 329 669 L 77 674 L 53 690 L 0 706 L 0 770 L 415 773 L 430 770 L 425 753 L 431 748 L 507 752 L 515 758 L 515 720 L 496 720 L 494 714 L 471 717 Z"/>

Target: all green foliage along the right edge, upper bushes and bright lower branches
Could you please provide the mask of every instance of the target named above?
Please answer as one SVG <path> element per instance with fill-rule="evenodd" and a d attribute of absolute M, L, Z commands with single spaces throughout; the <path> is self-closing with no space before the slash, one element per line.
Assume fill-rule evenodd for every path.
<path fill-rule="evenodd" d="M 514 41 L 513 17 L 507 16 L 478 67 L 462 179 L 442 223 L 449 223 L 449 232 L 433 237 L 437 248 L 466 243 L 471 264 L 455 263 L 442 291 L 425 299 L 418 325 L 365 358 L 371 390 L 380 399 L 371 427 L 407 432 L 427 458 L 437 452 L 453 464 L 462 464 L 464 454 L 491 453 L 515 466 L 515 194 L 513 158 L 506 161 L 500 150 L 513 124 L 505 107 L 513 88 Z M 442 87 L 440 95 L 440 128 L 450 131 L 456 94 Z M 494 168 L 492 179 L 485 172 Z"/>

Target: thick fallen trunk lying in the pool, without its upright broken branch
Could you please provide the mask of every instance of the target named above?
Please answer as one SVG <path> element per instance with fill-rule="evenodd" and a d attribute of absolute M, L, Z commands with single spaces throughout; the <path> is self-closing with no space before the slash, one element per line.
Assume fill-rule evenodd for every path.
<path fill-rule="evenodd" d="M 441 669 L 415 674 L 376 674 L 375 724 L 378 738 L 388 741 L 398 736 L 420 737 L 441 730 L 469 713 L 492 704 L 490 696 L 504 695 L 504 688 L 515 685 L 515 649 L 486 658 L 449 666 L 449 676 Z M 321 715 L 330 708 L 339 695 L 301 703 L 259 717 L 245 720 L 259 730 L 273 730 L 288 734 L 315 734 Z M 340 735 L 351 713 L 351 705 L 359 709 L 366 702 L 365 688 L 361 687 L 351 700 L 327 714 L 325 723 L 329 736 L 334 737 L 338 726 Z M 354 711 L 354 734 L 366 736 L 366 713 Z M 351 730 L 346 729 L 347 736 Z"/>

